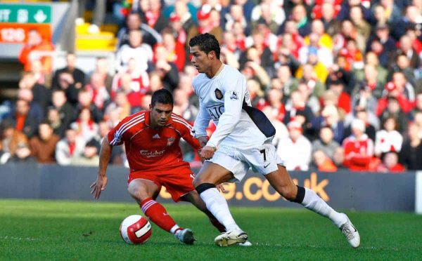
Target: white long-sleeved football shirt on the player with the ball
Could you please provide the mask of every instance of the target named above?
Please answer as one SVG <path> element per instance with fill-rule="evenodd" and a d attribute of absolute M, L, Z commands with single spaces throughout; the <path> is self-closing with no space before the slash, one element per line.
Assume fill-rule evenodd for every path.
<path fill-rule="evenodd" d="M 272 139 L 267 138 L 242 109 L 243 101 L 250 106 L 250 95 L 245 76 L 238 69 L 223 65 L 212 79 L 204 73 L 198 74 L 192 85 L 200 107 L 193 124 L 196 136 L 207 135 L 205 130 L 211 119 L 217 126 L 207 145 L 252 148 Z"/>

